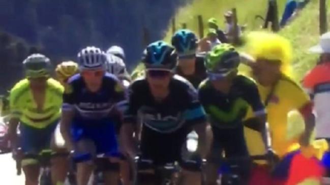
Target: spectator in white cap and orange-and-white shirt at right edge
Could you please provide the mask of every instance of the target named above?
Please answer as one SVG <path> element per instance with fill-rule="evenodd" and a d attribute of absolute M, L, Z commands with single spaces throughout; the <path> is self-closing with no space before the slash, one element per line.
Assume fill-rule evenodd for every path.
<path fill-rule="evenodd" d="M 318 45 L 310 48 L 319 54 L 317 65 L 303 79 L 304 88 L 313 97 L 316 113 L 316 138 L 330 142 L 330 32 L 321 35 Z M 328 169 L 330 167 L 327 166 Z"/>

